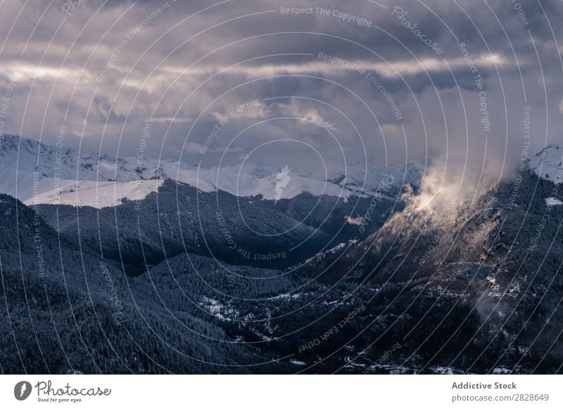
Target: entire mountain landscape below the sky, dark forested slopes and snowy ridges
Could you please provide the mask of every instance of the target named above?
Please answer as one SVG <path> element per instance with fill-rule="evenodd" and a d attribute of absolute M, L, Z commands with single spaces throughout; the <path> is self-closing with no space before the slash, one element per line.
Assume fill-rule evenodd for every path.
<path fill-rule="evenodd" d="M 22 175 L 55 179 L 51 148 L 5 136 L 0 150 L 5 189 L 15 169 L 18 195 Z M 259 182 L 274 169 L 251 167 L 234 194 L 233 173 L 201 188 L 171 176 L 197 175 L 188 165 L 156 161 L 138 178 L 128 160 L 69 151 L 65 180 L 141 181 L 146 195 L 0 195 L 0 369 L 561 373 L 560 151 L 474 195 L 429 195 L 413 165 L 326 182 L 346 195 L 296 176 L 278 200 Z M 114 167 L 99 181 L 102 163 Z M 410 186 L 382 189 L 387 177 Z"/>

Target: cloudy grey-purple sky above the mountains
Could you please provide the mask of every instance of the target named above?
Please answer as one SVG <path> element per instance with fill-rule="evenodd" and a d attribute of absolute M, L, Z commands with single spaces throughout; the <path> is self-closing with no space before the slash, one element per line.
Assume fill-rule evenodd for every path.
<path fill-rule="evenodd" d="M 527 143 L 563 143 L 562 12 L 537 0 L 4 0 L 2 131 L 120 156 L 146 141 L 148 155 L 205 167 L 417 161 L 499 177 Z"/>

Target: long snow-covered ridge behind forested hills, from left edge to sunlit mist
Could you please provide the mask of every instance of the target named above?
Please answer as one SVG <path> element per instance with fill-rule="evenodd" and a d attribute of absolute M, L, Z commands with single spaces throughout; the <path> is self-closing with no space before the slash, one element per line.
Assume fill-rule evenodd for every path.
<path fill-rule="evenodd" d="M 291 199 L 301 193 L 320 196 L 393 196 L 404 186 L 419 186 L 424 171 L 417 164 L 351 171 L 328 181 L 291 169 L 244 163 L 203 169 L 175 160 L 114 157 L 76 148 L 48 146 L 19 136 L 0 136 L 0 193 L 26 204 L 71 204 L 109 207 L 122 200 L 141 200 L 162 186 L 163 179 L 204 192 L 224 190 L 239 197 Z"/>

